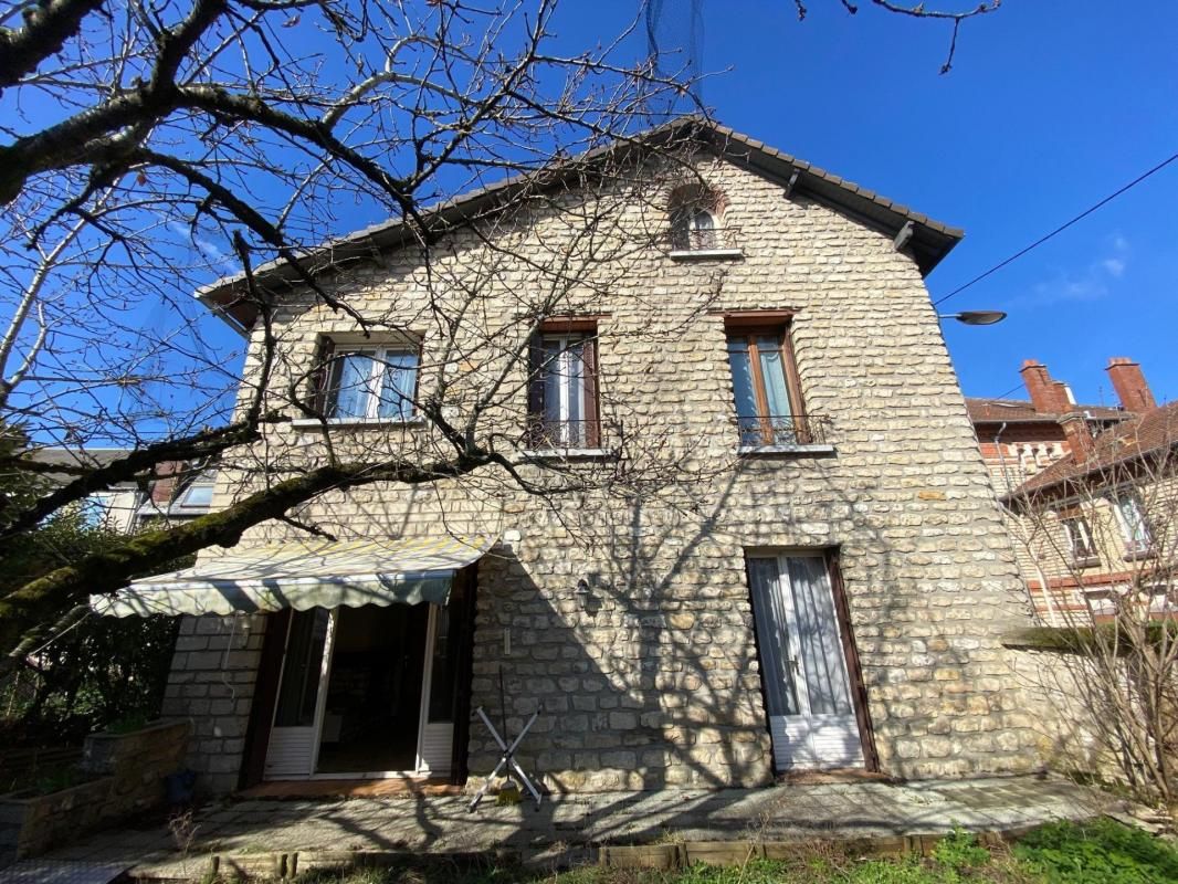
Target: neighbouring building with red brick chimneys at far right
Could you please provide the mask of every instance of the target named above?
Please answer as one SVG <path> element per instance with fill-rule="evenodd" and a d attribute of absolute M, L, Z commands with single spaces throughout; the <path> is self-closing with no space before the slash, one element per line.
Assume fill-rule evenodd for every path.
<path fill-rule="evenodd" d="M 1033 359 L 1023 365 L 1030 402 L 967 401 L 1035 612 L 1051 625 L 1110 615 L 1131 587 L 1158 609 L 1176 601 L 1178 404 L 1158 407 L 1131 359 L 1107 371 L 1118 407 L 1077 404 Z"/>

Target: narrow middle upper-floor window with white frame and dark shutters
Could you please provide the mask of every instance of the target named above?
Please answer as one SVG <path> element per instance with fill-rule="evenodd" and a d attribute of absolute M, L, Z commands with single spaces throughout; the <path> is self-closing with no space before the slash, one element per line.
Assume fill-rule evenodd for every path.
<path fill-rule="evenodd" d="M 537 335 L 531 347 L 530 377 L 527 444 L 597 448 L 601 423 L 596 325 L 578 321 Z"/>

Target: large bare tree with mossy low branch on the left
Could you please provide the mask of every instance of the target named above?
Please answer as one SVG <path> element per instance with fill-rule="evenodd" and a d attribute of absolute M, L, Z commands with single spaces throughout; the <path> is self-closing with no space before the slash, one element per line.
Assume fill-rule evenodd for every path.
<path fill-rule="evenodd" d="M 485 244 L 479 260 L 492 273 L 496 225 L 564 215 L 569 237 L 537 269 L 552 286 L 521 302 L 524 324 L 551 315 L 565 298 L 562 286 L 640 248 L 633 238 L 609 239 L 608 225 L 585 206 L 634 190 L 643 164 L 627 146 L 659 121 L 650 108 L 684 94 L 649 60 L 626 60 L 630 29 L 587 51 L 561 50 L 552 0 L 64 0 L 20 20 L 21 9 L 0 13 L 0 88 L 9 108 L 0 127 L 9 310 L 0 414 L 37 446 L 78 450 L 79 466 L 55 466 L 67 481 L 29 506 L 6 508 L 4 542 L 168 462 L 199 467 L 249 451 L 239 475 L 253 493 L 8 593 L 0 622 L 9 660 L 88 593 L 113 589 L 152 562 L 232 546 L 251 526 L 289 517 L 326 490 L 431 483 L 490 464 L 511 474 L 482 427 L 509 392 L 507 363 L 527 354 L 498 337 L 461 354 L 454 343 L 422 365 L 432 385 L 422 384 L 416 405 L 443 447 L 396 457 L 388 449 L 330 450 L 310 470 L 259 457 L 267 427 L 324 411 L 304 398 L 306 377 L 296 376 L 307 364 L 283 355 L 289 342 L 274 318 L 287 309 L 286 293 L 258 283 L 256 271 L 280 265 L 283 288 L 300 288 L 304 309 L 323 308 L 366 337 L 393 329 L 336 293 L 338 281 L 322 283 L 338 256 L 317 246 L 333 235 L 391 217 L 402 244 L 432 266 L 435 250 L 466 231 Z M 607 157 L 608 146 L 615 153 Z M 512 176 L 471 215 L 437 209 Z M 561 197 L 571 187 L 588 187 L 582 205 Z M 239 284 L 218 309 L 251 317 L 250 383 L 240 394 L 241 341 L 213 328 L 192 298 L 200 282 L 234 271 Z M 470 324 L 463 311 L 479 299 L 469 277 L 465 285 L 464 302 L 451 298 L 434 316 L 455 342 L 458 326 Z M 503 376 L 463 423 L 451 401 L 459 358 L 497 359 Z M 324 444 L 331 449 L 330 438 Z M 92 446 L 127 454 L 91 467 Z M 15 453 L 0 468 L 46 471 L 33 454 Z"/>

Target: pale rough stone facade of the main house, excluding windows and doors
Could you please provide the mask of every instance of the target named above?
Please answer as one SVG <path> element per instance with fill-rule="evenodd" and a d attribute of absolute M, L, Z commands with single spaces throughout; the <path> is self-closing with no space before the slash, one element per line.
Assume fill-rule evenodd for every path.
<path fill-rule="evenodd" d="M 686 262 L 655 244 L 635 248 L 624 264 L 587 264 L 560 309 L 548 305 L 595 317 L 603 420 L 624 430 L 603 441 L 616 443 L 618 460 L 562 466 L 613 482 L 538 497 L 481 470 L 432 486 L 326 494 L 299 517 L 342 537 L 439 526 L 501 535 L 478 566 L 471 705 L 498 708 L 502 667 L 509 730 L 541 712 L 521 756 L 552 789 L 770 779 L 744 572 L 747 552 L 759 549 L 839 550 L 884 771 L 931 777 L 1032 766 L 1034 735 L 999 641 L 1027 622 L 1027 612 L 916 264 L 896 251 L 894 235 L 787 196 L 782 182 L 720 158 L 697 159 L 696 171 L 722 193 L 722 223 L 740 256 Z M 666 225 L 656 203 L 618 199 L 618 229 Z M 485 246 L 456 235 L 435 249 L 429 273 L 416 249 L 403 249 L 325 284 L 364 316 L 421 336 L 423 383 L 445 381 L 452 420 L 468 415 L 466 403 L 503 370 L 511 394 L 488 420 L 501 440 L 512 431 L 518 438 L 525 369 L 507 359 L 534 329 L 521 299 L 548 285 L 536 265 L 570 227 L 560 211 L 535 210 L 501 232 L 514 255 L 496 256 L 494 273 Z M 437 316 L 454 315 L 450 299 L 463 281 L 478 290 L 479 319 L 445 337 Z M 306 374 L 320 335 L 358 334 L 348 316 L 297 290 L 286 298 L 274 384 L 283 389 Z M 806 410 L 829 418 L 829 447 L 740 456 L 723 315 L 787 308 Z M 258 370 L 259 341 L 247 376 Z M 431 364 L 443 350 L 446 364 Z M 431 456 L 443 448 L 418 425 L 330 433 L 337 454 L 378 444 Z M 326 450 L 319 429 L 280 425 L 267 435 L 265 456 L 306 464 L 323 462 Z M 627 476 L 674 481 L 614 493 L 618 462 Z M 536 481 L 548 475 L 535 464 L 519 470 Z M 232 467 L 219 481 L 219 501 L 251 487 Z M 271 525 L 243 543 L 292 535 Z M 578 592 L 582 581 L 588 593 Z M 224 634 L 216 619 L 186 622 L 168 693 L 170 713 L 194 721 L 193 758 L 206 771 L 216 766 L 218 783 L 239 759 L 260 629 L 251 627 L 249 639 L 238 633 L 245 644 L 230 652 L 229 669 L 225 645 L 213 647 Z M 494 766 L 495 746 L 478 724 L 469 752 L 472 773 Z"/>

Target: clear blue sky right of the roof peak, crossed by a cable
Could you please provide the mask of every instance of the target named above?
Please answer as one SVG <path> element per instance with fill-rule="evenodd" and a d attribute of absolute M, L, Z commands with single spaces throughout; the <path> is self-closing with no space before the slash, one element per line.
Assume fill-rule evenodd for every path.
<path fill-rule="evenodd" d="M 934 298 L 1178 152 L 1173 2 L 1006 0 L 966 24 L 944 77 L 945 26 L 866 0 L 855 17 L 807 5 L 799 22 L 789 0 L 704 0 L 702 67 L 723 73 L 703 99 L 734 128 L 964 227 L 928 278 Z M 604 35 L 634 6 L 575 0 L 562 37 Z M 687 6 L 667 0 L 664 15 Z M 1035 357 L 1080 400 L 1114 402 L 1104 368 L 1131 356 L 1159 401 L 1178 398 L 1176 203 L 1178 163 L 947 302 L 1010 312 L 946 323 L 966 394 L 1025 395 L 1011 388 Z"/>

